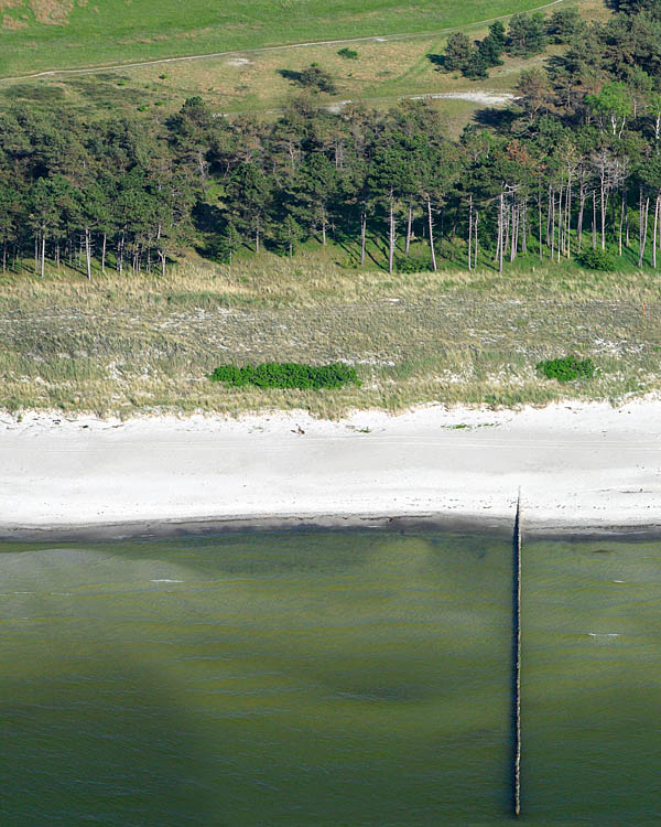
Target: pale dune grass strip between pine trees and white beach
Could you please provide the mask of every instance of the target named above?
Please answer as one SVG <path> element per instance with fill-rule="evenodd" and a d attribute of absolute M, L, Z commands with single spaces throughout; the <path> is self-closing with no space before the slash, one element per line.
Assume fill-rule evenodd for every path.
<path fill-rule="evenodd" d="M 182 264 L 165 279 L 53 271 L 0 289 L 0 407 L 128 417 L 155 410 L 239 414 L 413 404 L 622 400 L 661 390 L 655 273 L 588 273 L 522 264 L 503 276 L 350 271 L 330 258 L 263 254 L 231 269 Z M 540 359 L 575 353 L 599 368 L 561 385 Z M 228 389 L 218 364 L 351 363 L 361 387 Z"/>

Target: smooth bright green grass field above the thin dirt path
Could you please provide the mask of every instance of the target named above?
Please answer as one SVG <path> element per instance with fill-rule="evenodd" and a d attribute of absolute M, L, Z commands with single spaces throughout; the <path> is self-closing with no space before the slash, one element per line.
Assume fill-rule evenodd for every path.
<path fill-rule="evenodd" d="M 434 32 L 527 11 L 540 0 L 2 0 L 0 76 Z"/>

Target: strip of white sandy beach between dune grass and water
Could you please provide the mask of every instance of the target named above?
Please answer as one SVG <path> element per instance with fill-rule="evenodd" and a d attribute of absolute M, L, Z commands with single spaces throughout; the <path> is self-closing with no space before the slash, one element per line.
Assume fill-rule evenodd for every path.
<path fill-rule="evenodd" d="M 511 518 L 519 486 L 538 526 L 661 524 L 661 400 L 496 412 L 432 406 L 342 422 L 305 414 L 0 420 L 4 535 L 257 517 L 495 522 Z"/>

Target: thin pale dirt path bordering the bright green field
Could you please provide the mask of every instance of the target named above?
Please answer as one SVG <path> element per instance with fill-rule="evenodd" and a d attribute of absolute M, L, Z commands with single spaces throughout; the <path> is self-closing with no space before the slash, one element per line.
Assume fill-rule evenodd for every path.
<path fill-rule="evenodd" d="M 567 2 L 567 0 L 553 0 L 553 2 L 544 3 L 543 6 L 538 6 L 535 9 L 530 9 L 529 13 L 535 12 L 535 11 L 542 11 L 543 9 L 549 9 L 552 6 L 559 6 L 560 3 Z M 512 12 L 514 13 L 514 12 Z M 67 68 L 56 68 L 56 69 L 47 69 L 45 72 L 34 72 L 29 75 L 15 75 L 15 76 L 9 76 L 9 77 L 0 77 L 0 80 L 2 82 L 14 82 L 14 80 L 34 80 L 39 79 L 41 77 L 53 77 L 54 75 L 91 75 L 96 72 L 108 72 L 111 69 L 126 69 L 126 68 L 138 68 L 140 66 L 158 66 L 162 63 L 183 63 L 185 61 L 205 61 L 205 60 L 213 60 L 217 57 L 230 57 L 235 55 L 246 55 L 246 54 L 260 54 L 263 52 L 284 52 L 290 49 L 304 49 L 306 46 L 340 46 L 340 45 L 347 45 L 351 43 L 365 43 L 368 41 L 377 41 L 377 42 L 388 42 L 393 40 L 404 40 L 409 37 L 434 37 L 440 34 L 445 34 L 446 32 L 456 32 L 460 31 L 463 29 L 472 29 L 473 26 L 477 25 L 485 25 L 486 23 L 494 23 L 496 20 L 508 20 L 511 18 L 511 14 L 503 14 L 499 18 L 487 18 L 486 20 L 477 20 L 475 23 L 469 23 L 465 26 L 451 26 L 448 29 L 437 29 L 435 31 L 426 31 L 426 32 L 416 32 L 415 34 L 389 34 L 384 36 L 379 35 L 368 35 L 365 37 L 348 37 L 345 40 L 322 40 L 322 41 L 310 41 L 307 43 L 289 43 L 281 46 L 261 46 L 260 49 L 243 49 L 243 50 L 231 50 L 229 52 L 212 52 L 208 54 L 194 54 L 194 55 L 187 55 L 184 57 L 160 57 L 155 61 L 138 61 L 137 63 L 117 63 L 117 64 L 109 64 L 109 65 L 102 65 L 102 66 L 88 66 L 87 68 L 77 68 L 77 69 L 67 69 Z"/>

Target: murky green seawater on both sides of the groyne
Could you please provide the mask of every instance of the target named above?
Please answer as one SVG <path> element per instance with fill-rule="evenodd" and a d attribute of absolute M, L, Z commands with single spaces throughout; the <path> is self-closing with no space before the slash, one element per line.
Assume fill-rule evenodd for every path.
<path fill-rule="evenodd" d="M 0 545 L 0 824 L 511 821 L 512 548 Z M 523 824 L 661 821 L 661 543 L 524 541 Z"/>

